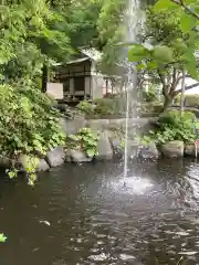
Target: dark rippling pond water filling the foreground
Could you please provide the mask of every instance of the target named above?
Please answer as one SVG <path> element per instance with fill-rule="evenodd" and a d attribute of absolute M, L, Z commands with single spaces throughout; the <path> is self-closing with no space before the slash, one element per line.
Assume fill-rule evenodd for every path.
<path fill-rule="evenodd" d="M 66 165 L 0 180 L 0 265 L 199 264 L 199 163 Z M 44 223 L 42 221 L 48 221 Z"/>

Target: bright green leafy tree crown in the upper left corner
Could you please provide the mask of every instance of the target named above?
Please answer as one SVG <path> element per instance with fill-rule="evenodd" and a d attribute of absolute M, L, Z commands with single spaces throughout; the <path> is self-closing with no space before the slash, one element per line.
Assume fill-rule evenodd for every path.
<path fill-rule="evenodd" d="M 43 64 L 57 59 L 56 54 L 69 53 L 62 13 L 45 1 L 4 2 L 0 12 L 2 55 L 8 54 L 2 61 L 7 82 L 30 81 Z"/>

